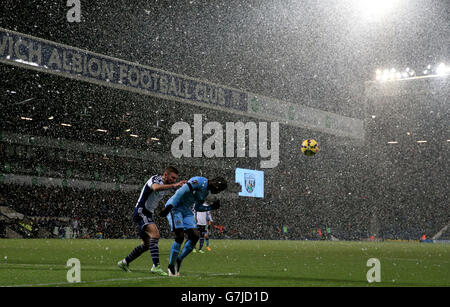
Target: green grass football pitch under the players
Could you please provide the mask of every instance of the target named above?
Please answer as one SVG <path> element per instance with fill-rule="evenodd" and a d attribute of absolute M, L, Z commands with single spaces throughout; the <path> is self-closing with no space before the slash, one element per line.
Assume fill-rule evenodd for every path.
<path fill-rule="evenodd" d="M 166 268 L 172 240 L 160 241 Z M 150 273 L 150 253 L 117 267 L 139 240 L 0 239 L 0 286 L 309 287 L 450 286 L 450 244 L 211 240 L 190 254 L 180 277 Z M 80 261 L 69 283 L 67 260 Z M 381 282 L 367 281 L 377 258 Z"/>

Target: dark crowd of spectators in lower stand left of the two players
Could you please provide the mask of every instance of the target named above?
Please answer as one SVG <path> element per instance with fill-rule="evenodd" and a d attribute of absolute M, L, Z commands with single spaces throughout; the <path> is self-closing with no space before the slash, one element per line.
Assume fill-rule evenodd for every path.
<path fill-rule="evenodd" d="M 55 227 L 73 229 L 76 219 L 80 237 L 95 238 L 101 233 L 103 238 L 119 238 L 134 235 L 130 219 L 134 206 L 131 199 L 136 198 L 133 194 L 136 193 L 2 184 L 0 201 L 2 206 L 31 219 L 34 227 L 55 236 L 60 236 L 54 233 Z"/>

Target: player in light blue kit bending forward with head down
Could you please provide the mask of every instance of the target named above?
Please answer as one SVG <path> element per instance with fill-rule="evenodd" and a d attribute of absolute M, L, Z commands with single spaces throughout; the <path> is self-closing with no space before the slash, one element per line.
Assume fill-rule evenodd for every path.
<path fill-rule="evenodd" d="M 222 177 L 208 180 L 204 177 L 193 177 L 186 182 L 178 191 L 167 201 L 164 210 L 160 216 L 167 216 L 170 229 L 175 234 L 175 242 L 170 249 L 170 259 L 168 266 L 169 276 L 177 276 L 180 272 L 181 262 L 192 252 L 192 249 L 198 242 L 199 235 L 197 224 L 195 223 L 195 211 L 210 211 L 220 207 L 219 200 L 214 201 L 210 206 L 204 206 L 208 194 L 217 194 L 227 188 L 227 182 Z M 188 240 L 181 250 L 181 244 L 184 241 L 186 233 Z"/>

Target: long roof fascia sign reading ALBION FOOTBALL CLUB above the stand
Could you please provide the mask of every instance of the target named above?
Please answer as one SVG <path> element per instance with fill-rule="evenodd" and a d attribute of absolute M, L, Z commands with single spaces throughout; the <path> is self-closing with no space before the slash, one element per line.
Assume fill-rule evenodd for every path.
<path fill-rule="evenodd" d="M 0 63 L 362 140 L 363 121 L 0 28 Z"/>

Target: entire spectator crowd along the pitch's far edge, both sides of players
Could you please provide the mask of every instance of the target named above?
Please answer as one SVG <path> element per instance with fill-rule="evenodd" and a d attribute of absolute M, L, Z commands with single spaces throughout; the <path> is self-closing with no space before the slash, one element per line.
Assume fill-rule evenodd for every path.
<path fill-rule="evenodd" d="M 137 238 L 132 212 L 139 197 L 136 191 L 106 191 L 1 184 L 0 206 L 7 206 L 33 221 L 34 229 L 53 237 L 67 237 L 61 230 L 78 227 L 78 238 Z M 292 191 L 291 195 L 295 195 Z M 216 239 L 364 240 L 371 236 L 370 210 L 364 202 L 345 198 L 341 202 L 305 193 L 294 200 L 223 198 L 213 212 L 211 237 Z M 162 206 L 163 204 L 161 204 Z M 387 216 L 379 209 L 378 237 L 418 239 L 432 235 L 445 225 L 439 213 L 426 219 L 418 210 L 391 208 Z M 158 209 L 157 209 L 158 212 Z M 409 213 L 409 214 L 408 214 Z M 417 216 L 415 216 L 417 215 Z M 442 216 L 442 215 L 441 215 Z M 162 238 L 171 238 L 168 223 L 155 216 Z M 55 229 L 59 229 L 56 231 Z M 34 234 L 44 232 L 34 231 Z"/>

